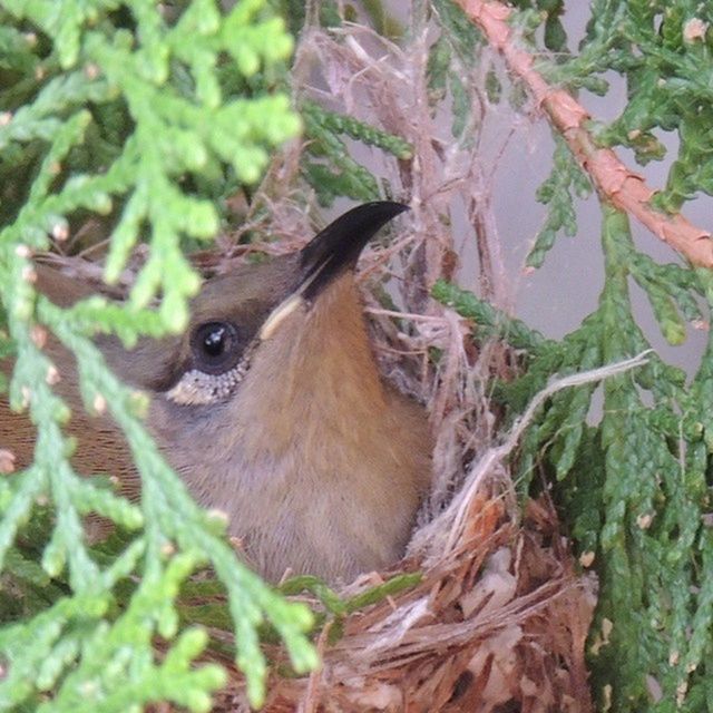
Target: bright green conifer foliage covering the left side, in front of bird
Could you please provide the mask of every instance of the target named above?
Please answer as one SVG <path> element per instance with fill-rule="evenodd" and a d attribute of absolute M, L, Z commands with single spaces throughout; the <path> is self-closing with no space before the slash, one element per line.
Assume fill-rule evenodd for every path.
<path fill-rule="evenodd" d="M 195 0 L 166 17 L 147 0 L 8 0 L 1 7 L 0 71 L 8 89 L 0 90 L 0 174 L 3 195 L 23 196 L 0 211 L 3 351 L 16 364 L 10 401 L 29 410 L 37 446 L 28 469 L 0 480 L 3 577 L 33 597 L 25 612 L 33 616 L 10 623 L 6 612 L 0 622 L 0 710 L 126 711 L 158 701 L 208 710 L 225 672 L 195 666 L 206 635 L 182 627 L 174 602 L 186 577 L 206 565 L 227 593 L 237 664 L 257 705 L 266 675 L 257 626 L 268 621 L 295 670 L 305 671 L 316 663 L 305 637 L 311 613 L 238 561 L 222 520 L 193 502 L 145 432 L 143 400 L 113 377 L 90 338 L 113 332 L 131 345 L 139 334 L 185 326 L 186 300 L 198 281 L 180 240 L 209 237 L 218 226 L 213 204 L 186 179 L 217 165 L 254 182 L 267 148 L 299 128 L 286 96 L 226 94 L 218 66 L 234 62 L 253 76 L 284 60 L 292 39 L 262 0 L 227 13 Z M 20 52 L 14 59 L 13 50 Z M 13 173 L 13 162 L 21 170 Z M 148 258 L 126 305 L 90 297 L 60 309 L 36 294 L 32 254 L 52 237 L 64 240 L 82 211 L 118 216 L 110 281 L 146 236 Z M 147 305 L 158 293 L 153 312 Z M 38 330 L 74 352 L 86 408 L 108 408 L 124 430 L 141 476 L 139 502 L 75 471 L 74 442 L 64 431 L 69 409 L 52 389 L 62 374 L 45 355 Z M 53 517 L 33 531 L 46 506 Z M 134 536 L 101 557 L 86 540 L 87 515 Z M 41 569 L 28 558 L 32 550 L 41 553 Z M 126 578 L 137 576 L 138 586 L 127 589 Z M 160 662 L 156 637 L 165 642 Z"/>

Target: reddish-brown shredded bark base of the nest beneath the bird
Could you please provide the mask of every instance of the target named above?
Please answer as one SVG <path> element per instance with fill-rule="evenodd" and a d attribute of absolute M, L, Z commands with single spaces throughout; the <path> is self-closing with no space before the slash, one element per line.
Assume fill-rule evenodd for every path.
<path fill-rule="evenodd" d="M 265 711 L 592 710 L 584 644 L 596 584 L 576 574 L 549 504 L 530 501 L 517 524 L 502 498 L 478 494 L 456 541 L 438 535 L 443 524 L 417 533 L 421 557 L 399 569 L 422 567 L 421 583 L 348 616 L 336 643 L 328 623 L 322 667 L 302 678 L 273 673 Z M 270 655 L 273 672 L 287 665 L 282 649 Z M 236 671 L 215 710 L 248 711 Z"/>

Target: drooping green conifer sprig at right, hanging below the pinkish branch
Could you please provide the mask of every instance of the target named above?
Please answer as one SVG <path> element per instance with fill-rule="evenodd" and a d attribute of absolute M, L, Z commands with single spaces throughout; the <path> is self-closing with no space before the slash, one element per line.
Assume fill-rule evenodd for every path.
<path fill-rule="evenodd" d="M 632 316 L 629 275 L 643 283 L 668 336 L 681 316 L 657 310 L 655 300 L 667 300 L 667 309 L 681 309 L 686 319 L 700 319 L 701 295 L 713 294 L 706 272 L 661 265 L 638 253 L 626 216 L 606 206 L 602 241 L 606 267 L 599 305 L 560 342 L 453 285 L 436 286 L 437 299 L 475 320 L 477 340 L 502 339 L 522 350 L 525 374 L 495 391 L 514 414 L 553 373 L 596 368 L 649 348 Z M 531 484 L 536 465 L 546 463 L 561 481 L 556 497 L 579 551 L 596 553 L 602 589 L 594 637 L 604 619 L 616 626 L 596 649 L 595 683 L 613 686 L 621 710 L 641 710 L 646 700 L 642 671 L 652 672 L 670 700 L 686 691 L 687 711 L 699 710 L 706 686 L 713 621 L 713 578 L 705 568 L 713 557 L 705 524 L 710 350 L 688 387 L 685 374 L 655 353 L 643 369 L 605 381 L 597 426 L 587 422 L 594 387 L 556 394 L 518 456 L 521 490 Z"/>

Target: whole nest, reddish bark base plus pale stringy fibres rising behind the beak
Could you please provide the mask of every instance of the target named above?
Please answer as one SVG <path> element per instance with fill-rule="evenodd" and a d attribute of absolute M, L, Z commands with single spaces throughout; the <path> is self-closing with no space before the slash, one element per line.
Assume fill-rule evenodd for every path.
<path fill-rule="evenodd" d="M 578 574 L 547 499 L 524 510 L 515 502 L 506 462 L 521 431 L 510 433 L 504 449 L 501 414 L 487 392 L 494 377 L 517 372 L 517 355 L 500 343 L 475 349 L 472 325 L 428 299 L 433 283 L 455 279 L 467 260 L 456 241 L 470 240 L 479 263 L 479 282 L 470 286 L 508 310 L 511 292 L 488 192 L 511 135 L 495 137 L 491 157 L 482 152 L 487 137 L 441 150 L 452 138 L 450 125 L 430 113 L 424 75 L 414 69 L 427 64 L 427 35 L 414 32 L 404 48 L 359 26 L 332 35 L 314 26 L 297 49 L 299 95 L 407 138 L 418 156 L 411 164 L 374 165 L 412 211 L 391 241 L 365 252 L 360 271 L 384 374 L 428 406 L 434 480 L 398 569 L 364 575 L 340 594 L 352 596 L 400 573 L 422 573 L 420 584 L 328 622 L 318 639 L 322 666 L 310 676 L 280 675 L 289 661 L 282 648 L 270 647 L 268 713 L 592 710 L 584 647 L 596 580 Z M 488 125 L 485 116 L 479 125 Z M 281 192 L 295 185 L 302 150 L 294 145 L 277 157 L 265 179 L 266 223 L 247 216 L 250 227 L 283 240 L 251 250 L 290 252 L 312 234 L 300 202 Z M 469 226 L 466 234 L 455 236 L 453 223 L 443 219 L 453 209 L 461 212 L 453 223 L 465 218 Z M 234 238 L 222 245 L 227 260 L 240 258 L 235 245 Z M 392 310 L 380 299 L 384 290 Z M 442 354 L 436 364 L 433 349 Z M 310 604 L 320 609 L 318 600 Z M 241 674 L 233 674 L 215 710 L 248 710 Z"/>

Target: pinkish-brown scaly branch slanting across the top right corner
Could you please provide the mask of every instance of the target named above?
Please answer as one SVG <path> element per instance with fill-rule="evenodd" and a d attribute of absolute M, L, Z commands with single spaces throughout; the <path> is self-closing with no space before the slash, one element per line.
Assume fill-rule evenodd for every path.
<path fill-rule="evenodd" d="M 490 46 L 502 55 L 508 68 L 527 85 L 592 177 L 597 191 L 695 265 L 713 267 L 711 234 L 678 213 L 666 215 L 655 211 L 649 204 L 654 191 L 646 185 L 643 176 L 625 166 L 612 149 L 596 146 L 585 128 L 585 123 L 590 118 L 586 109 L 568 92 L 550 87 L 534 69 L 533 56 L 518 47 L 514 30 L 508 25 L 512 10 L 494 0 L 457 2 L 488 38 Z"/>

